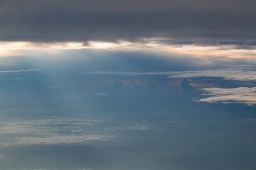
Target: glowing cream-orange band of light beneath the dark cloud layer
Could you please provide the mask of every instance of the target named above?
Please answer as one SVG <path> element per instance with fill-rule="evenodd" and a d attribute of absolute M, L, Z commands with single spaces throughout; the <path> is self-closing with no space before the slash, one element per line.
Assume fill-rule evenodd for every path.
<path fill-rule="evenodd" d="M 160 39 L 159 39 L 160 40 Z M 195 57 L 214 57 L 221 59 L 228 58 L 251 58 L 256 56 L 255 50 L 236 49 L 234 45 L 197 46 L 197 45 L 168 45 L 161 44 L 158 39 L 146 39 L 142 42 L 119 41 L 100 42 L 89 41 L 88 45 L 83 42 L 0 42 L 0 57 L 20 55 L 19 50 L 29 49 L 105 49 L 105 50 L 141 50 L 146 52 L 163 52 L 188 54 Z"/>

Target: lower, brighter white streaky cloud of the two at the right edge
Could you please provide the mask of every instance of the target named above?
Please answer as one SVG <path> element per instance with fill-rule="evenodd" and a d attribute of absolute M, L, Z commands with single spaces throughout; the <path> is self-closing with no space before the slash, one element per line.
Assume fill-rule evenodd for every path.
<path fill-rule="evenodd" d="M 242 103 L 246 105 L 256 104 L 256 87 L 239 87 L 239 88 L 203 88 L 204 92 L 210 97 L 194 100 L 208 103 Z"/>

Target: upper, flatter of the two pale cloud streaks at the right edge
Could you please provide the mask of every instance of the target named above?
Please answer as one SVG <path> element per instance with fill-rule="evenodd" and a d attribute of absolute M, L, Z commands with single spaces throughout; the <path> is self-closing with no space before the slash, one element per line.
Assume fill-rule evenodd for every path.
<path fill-rule="evenodd" d="M 224 78 L 227 80 L 255 81 L 256 71 L 251 70 L 202 70 L 202 71 L 177 71 L 172 72 L 168 78 Z"/>

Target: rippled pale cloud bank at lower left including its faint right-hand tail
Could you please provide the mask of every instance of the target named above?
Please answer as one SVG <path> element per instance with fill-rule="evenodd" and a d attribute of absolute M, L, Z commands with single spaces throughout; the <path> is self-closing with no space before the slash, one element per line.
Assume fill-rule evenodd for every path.
<path fill-rule="evenodd" d="M 113 124 L 113 123 L 112 123 Z M 127 130 L 150 130 L 146 122 L 127 122 L 126 124 L 110 125 L 100 120 L 76 118 L 49 118 L 38 120 L 13 120 L 2 122 L 0 135 L 11 135 L 8 141 L 0 139 L 0 146 L 30 144 L 64 144 L 64 143 L 95 143 L 108 141 L 115 135 Z M 105 127 L 105 128 L 104 128 Z M 0 155 L 1 158 L 1 155 Z"/>

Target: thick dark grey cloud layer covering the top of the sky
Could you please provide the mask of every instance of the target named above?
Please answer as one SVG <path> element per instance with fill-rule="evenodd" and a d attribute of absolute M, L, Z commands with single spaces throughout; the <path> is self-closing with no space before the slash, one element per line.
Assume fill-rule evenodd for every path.
<path fill-rule="evenodd" d="M 254 1 L 2 1 L 1 41 L 254 40 Z M 235 42 L 234 42 L 235 41 Z"/>

